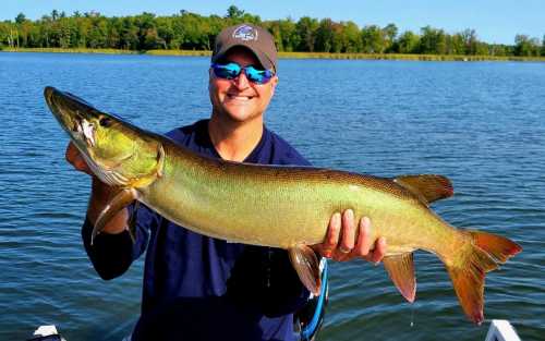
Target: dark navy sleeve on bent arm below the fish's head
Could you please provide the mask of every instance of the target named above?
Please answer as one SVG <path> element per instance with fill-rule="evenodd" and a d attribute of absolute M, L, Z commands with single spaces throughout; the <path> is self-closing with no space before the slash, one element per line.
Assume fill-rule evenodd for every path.
<path fill-rule="evenodd" d="M 98 272 L 100 278 L 110 280 L 123 275 L 132 261 L 138 258 L 146 249 L 149 230 L 157 227 L 159 217 L 144 205 L 140 205 L 135 210 L 135 205 L 128 207 L 129 215 L 136 215 L 135 220 L 135 242 L 131 240 L 129 231 L 118 234 L 99 233 L 93 245 L 90 245 L 90 235 L 93 224 L 88 218 L 82 227 L 82 239 L 85 251 Z"/>

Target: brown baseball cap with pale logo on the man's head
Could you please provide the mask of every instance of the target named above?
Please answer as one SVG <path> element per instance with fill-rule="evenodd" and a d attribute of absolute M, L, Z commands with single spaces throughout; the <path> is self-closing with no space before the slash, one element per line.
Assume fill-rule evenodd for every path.
<path fill-rule="evenodd" d="M 235 46 L 247 48 L 255 54 L 263 68 L 276 72 L 275 38 L 263 27 L 253 24 L 239 24 L 223 28 L 216 36 L 211 62 L 220 61 Z"/>

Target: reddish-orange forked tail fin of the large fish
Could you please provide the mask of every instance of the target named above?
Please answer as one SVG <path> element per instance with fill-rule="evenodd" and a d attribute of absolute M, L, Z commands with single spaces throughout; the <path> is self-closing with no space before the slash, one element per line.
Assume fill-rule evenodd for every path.
<path fill-rule="evenodd" d="M 462 231 L 465 240 L 451 261 L 446 264 L 458 300 L 470 320 L 481 325 L 484 320 L 484 278 L 522 248 L 512 241 L 477 231 Z M 469 238 L 468 238 L 469 236 Z"/>

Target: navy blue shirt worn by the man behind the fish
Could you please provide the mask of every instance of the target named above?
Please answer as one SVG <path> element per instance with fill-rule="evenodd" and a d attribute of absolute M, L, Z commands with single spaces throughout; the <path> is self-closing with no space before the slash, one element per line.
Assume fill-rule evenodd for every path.
<path fill-rule="evenodd" d="M 220 158 L 208 135 L 208 120 L 167 136 L 201 155 Z M 244 161 L 310 165 L 267 129 Z M 123 232 L 101 233 L 90 246 L 92 226 L 86 221 L 82 229 L 85 249 L 104 279 L 122 275 L 147 251 L 133 340 L 293 340 L 292 313 L 306 302 L 308 292 L 286 251 L 197 234 L 144 205 L 135 214 L 135 244 Z"/>

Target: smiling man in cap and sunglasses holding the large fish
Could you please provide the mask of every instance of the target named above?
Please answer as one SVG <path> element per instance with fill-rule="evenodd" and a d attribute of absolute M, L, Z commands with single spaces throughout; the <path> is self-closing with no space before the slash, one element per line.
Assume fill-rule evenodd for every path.
<path fill-rule="evenodd" d="M 265 110 L 278 84 L 276 72 L 277 51 L 268 32 L 247 24 L 223 29 L 216 38 L 209 69 L 210 119 L 167 136 L 213 158 L 308 165 L 264 125 Z M 72 144 L 66 159 L 92 174 Z M 292 313 L 304 305 L 308 292 L 286 251 L 204 236 L 145 206 L 118 214 L 92 246 L 92 226 L 110 193 L 93 176 L 82 236 L 104 279 L 122 275 L 147 249 L 142 314 L 133 340 L 293 340 Z M 132 214 L 136 217 L 134 244 L 126 232 Z M 370 253 L 370 224 L 365 218 L 356 227 L 351 210 L 334 214 L 326 240 L 313 247 L 336 260 L 364 257 L 379 261 L 385 241 L 379 240 Z"/>

